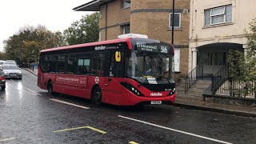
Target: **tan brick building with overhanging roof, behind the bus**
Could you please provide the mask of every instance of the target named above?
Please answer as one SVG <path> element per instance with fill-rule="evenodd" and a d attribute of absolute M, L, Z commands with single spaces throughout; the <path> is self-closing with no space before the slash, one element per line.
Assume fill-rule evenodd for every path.
<path fill-rule="evenodd" d="M 146 34 L 149 38 L 171 42 L 173 0 L 92 0 L 74 8 L 100 13 L 100 38 L 110 40 L 120 34 Z M 174 69 L 177 77 L 188 73 L 190 0 L 175 1 Z"/>

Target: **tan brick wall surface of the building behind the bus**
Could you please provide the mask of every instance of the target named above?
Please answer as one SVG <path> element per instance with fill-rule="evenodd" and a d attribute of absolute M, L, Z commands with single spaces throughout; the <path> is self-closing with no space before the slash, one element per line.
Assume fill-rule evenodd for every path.
<path fill-rule="evenodd" d="M 122 0 L 108 3 L 107 8 L 107 39 L 115 39 L 122 34 L 122 24 L 130 23 L 130 33 L 146 34 L 149 38 L 162 42 L 171 42 L 171 29 L 169 28 L 169 14 L 172 9 L 170 0 L 131 0 L 130 8 L 122 9 Z M 188 73 L 188 45 L 190 13 L 183 10 L 190 9 L 190 0 L 176 0 L 175 12 L 181 12 L 181 29 L 174 30 L 174 45 L 185 45 L 180 49 L 181 77 Z M 144 10 L 144 11 L 143 11 Z M 102 40 L 105 40 L 106 5 L 101 7 L 102 18 L 100 29 Z"/>

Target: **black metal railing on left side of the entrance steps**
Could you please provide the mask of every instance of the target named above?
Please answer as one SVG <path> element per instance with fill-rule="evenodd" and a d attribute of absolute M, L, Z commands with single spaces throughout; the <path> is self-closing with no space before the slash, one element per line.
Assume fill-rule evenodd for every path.
<path fill-rule="evenodd" d="M 203 62 L 200 62 L 190 73 L 184 78 L 185 80 L 185 94 L 191 86 L 197 82 L 198 79 L 203 79 Z"/>

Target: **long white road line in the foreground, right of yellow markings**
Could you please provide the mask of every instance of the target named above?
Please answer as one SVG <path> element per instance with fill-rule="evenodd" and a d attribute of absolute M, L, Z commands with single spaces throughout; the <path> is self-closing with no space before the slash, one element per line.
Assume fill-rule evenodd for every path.
<path fill-rule="evenodd" d="M 232 144 L 230 142 L 224 142 L 224 141 L 221 141 L 221 140 L 218 140 L 218 139 L 208 138 L 208 137 L 204 137 L 202 135 L 192 134 L 192 133 L 188 133 L 188 132 L 185 132 L 185 131 L 182 131 L 182 130 L 175 130 L 175 129 L 172 129 L 172 128 L 169 128 L 169 127 L 166 127 L 166 126 L 160 126 L 160 125 L 156 125 L 154 123 L 144 122 L 144 121 L 140 121 L 138 119 L 124 117 L 122 115 L 118 115 L 118 117 L 126 118 L 126 119 L 129 119 L 129 120 L 135 121 L 135 122 L 141 122 L 141 123 L 144 123 L 144 124 L 150 125 L 150 126 L 156 126 L 156 127 L 159 127 L 159 128 L 162 128 L 162 129 L 166 129 L 166 130 L 172 130 L 172 131 L 175 131 L 175 132 L 178 132 L 178 133 L 182 133 L 182 134 L 188 134 L 188 135 L 191 135 L 191 136 L 194 136 L 194 137 L 203 138 L 203 139 L 207 139 L 207 140 L 214 141 L 214 142 L 220 142 L 220 143 L 225 143 L 225 144 Z"/>

